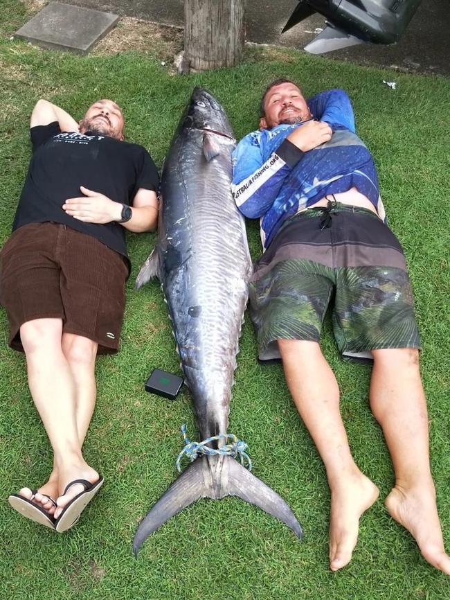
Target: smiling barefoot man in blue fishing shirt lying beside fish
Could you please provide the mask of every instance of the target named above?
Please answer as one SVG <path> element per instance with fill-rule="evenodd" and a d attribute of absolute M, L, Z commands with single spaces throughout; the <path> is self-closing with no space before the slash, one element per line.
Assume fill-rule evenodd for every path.
<path fill-rule="evenodd" d="M 327 470 L 330 568 L 350 562 L 359 518 L 379 495 L 352 458 L 339 387 L 319 345 L 333 299 L 341 354 L 373 361 L 370 406 L 396 478 L 386 507 L 424 558 L 450 574 L 429 466 L 411 285 L 347 94 L 333 89 L 307 102 L 294 82 L 273 82 L 262 98 L 260 130 L 233 154 L 233 195 L 240 211 L 261 224 L 264 254 L 250 285 L 260 360 L 282 359 Z"/>

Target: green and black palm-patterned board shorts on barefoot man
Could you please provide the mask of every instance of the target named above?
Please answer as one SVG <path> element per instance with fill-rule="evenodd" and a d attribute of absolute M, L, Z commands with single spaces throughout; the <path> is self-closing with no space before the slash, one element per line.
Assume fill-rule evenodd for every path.
<path fill-rule="evenodd" d="M 344 358 L 420 347 L 402 246 L 371 211 L 337 203 L 282 225 L 250 284 L 260 360 L 280 358 L 277 339 L 318 342 L 330 301 Z"/>

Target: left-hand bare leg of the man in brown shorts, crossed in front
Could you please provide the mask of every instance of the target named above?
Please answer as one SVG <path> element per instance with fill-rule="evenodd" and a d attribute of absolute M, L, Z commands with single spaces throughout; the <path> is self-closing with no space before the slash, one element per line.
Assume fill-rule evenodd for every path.
<path fill-rule="evenodd" d="M 26 353 L 28 385 L 54 452 L 51 479 L 39 491 L 54 496 L 60 495 L 73 479 L 96 482 L 98 474 L 82 457 L 76 422 L 75 381 L 62 352 L 61 319 L 28 321 L 21 326 L 20 333 Z M 55 488 L 53 493 L 48 491 L 50 487 Z M 70 497 L 82 489 L 82 486 L 73 486 Z M 64 506 L 70 497 L 68 493 L 58 500 L 58 505 Z M 43 505 L 48 506 L 45 501 Z M 53 512 L 51 508 L 48 510 Z M 60 512 L 61 509 L 56 509 L 55 517 Z"/>

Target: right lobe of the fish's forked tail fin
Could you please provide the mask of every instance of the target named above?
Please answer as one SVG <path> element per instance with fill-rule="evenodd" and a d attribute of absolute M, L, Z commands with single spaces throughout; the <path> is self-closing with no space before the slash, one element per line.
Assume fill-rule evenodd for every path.
<path fill-rule="evenodd" d="M 228 463 L 227 492 L 228 495 L 238 496 L 250 504 L 255 504 L 264 512 L 287 524 L 298 539 L 302 539 L 302 527 L 285 500 L 261 479 L 252 475 L 242 464 L 231 458 Z"/>

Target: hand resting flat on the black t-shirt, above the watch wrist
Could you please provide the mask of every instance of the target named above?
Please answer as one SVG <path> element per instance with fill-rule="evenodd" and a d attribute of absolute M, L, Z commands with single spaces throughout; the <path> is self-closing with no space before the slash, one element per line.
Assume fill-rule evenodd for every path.
<path fill-rule="evenodd" d="M 80 186 L 84 196 L 68 198 L 62 208 L 74 219 L 85 223 L 110 223 L 119 221 L 122 216 L 122 204 L 109 197 Z"/>

